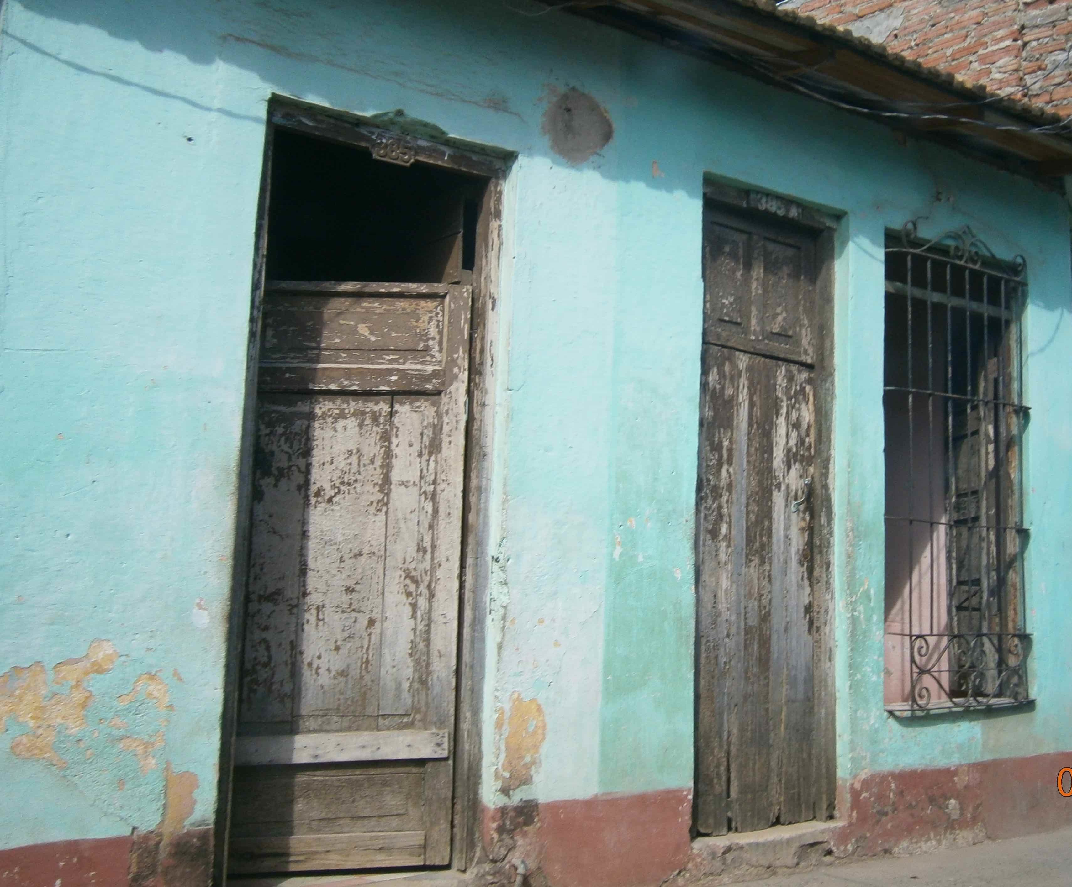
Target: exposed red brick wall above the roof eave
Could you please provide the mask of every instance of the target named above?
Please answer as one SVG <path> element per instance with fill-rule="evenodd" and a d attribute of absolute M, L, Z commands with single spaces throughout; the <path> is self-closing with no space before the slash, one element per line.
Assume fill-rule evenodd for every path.
<path fill-rule="evenodd" d="M 968 82 L 1072 115 L 1072 0 L 789 0 Z"/>

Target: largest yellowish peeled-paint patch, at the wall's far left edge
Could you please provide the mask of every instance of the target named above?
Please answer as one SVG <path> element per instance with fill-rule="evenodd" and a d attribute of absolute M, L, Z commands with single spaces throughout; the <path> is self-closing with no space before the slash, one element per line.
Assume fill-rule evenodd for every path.
<path fill-rule="evenodd" d="M 118 659 L 110 641 L 96 640 L 85 656 L 56 663 L 51 685 L 70 685 L 65 693 L 49 693 L 48 671 L 41 662 L 0 675 L 0 733 L 6 732 L 10 718 L 30 728 L 12 740 L 12 754 L 65 768 L 68 761 L 56 751 L 59 728 L 74 734 L 86 727 L 86 709 L 93 698 L 86 683 L 93 675 L 110 672 Z"/>

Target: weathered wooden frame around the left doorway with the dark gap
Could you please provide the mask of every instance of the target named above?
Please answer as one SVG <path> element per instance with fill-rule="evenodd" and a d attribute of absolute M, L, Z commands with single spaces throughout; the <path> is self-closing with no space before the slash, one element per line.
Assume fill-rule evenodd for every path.
<path fill-rule="evenodd" d="M 232 556 L 232 590 L 227 619 L 227 648 L 217 782 L 212 883 L 226 880 L 230 822 L 232 773 L 238 726 L 238 694 L 245 621 L 245 586 L 249 573 L 253 505 L 253 456 L 256 437 L 257 372 L 264 305 L 265 259 L 268 245 L 268 206 L 271 187 L 272 144 L 277 127 L 295 130 L 331 141 L 372 151 L 388 162 L 420 162 L 479 177 L 486 183 L 480 207 L 473 303 L 470 322 L 470 372 L 465 418 L 465 463 L 462 492 L 462 533 L 459 586 L 459 638 L 455 703 L 453 803 L 451 867 L 465 870 L 475 860 L 479 843 L 480 709 L 486 637 L 491 543 L 491 453 L 494 431 L 493 351 L 498 336 L 498 266 L 502 245 L 503 183 L 512 161 L 508 152 L 492 153 L 483 146 L 449 140 L 440 144 L 406 134 L 412 124 L 397 115 L 382 121 L 272 95 L 265 120 L 260 194 L 254 235 L 253 283 L 245 389 L 242 402 L 241 444 L 236 491 L 236 525 Z M 398 129 L 393 129 L 397 125 Z"/>

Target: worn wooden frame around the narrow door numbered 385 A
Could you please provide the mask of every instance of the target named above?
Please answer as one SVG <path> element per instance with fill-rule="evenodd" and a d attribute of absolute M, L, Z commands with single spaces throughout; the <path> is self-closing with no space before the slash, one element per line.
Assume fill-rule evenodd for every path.
<path fill-rule="evenodd" d="M 815 351 L 815 477 L 816 486 L 813 490 L 815 501 L 815 528 L 813 530 L 813 552 L 816 565 L 824 565 L 825 569 L 816 570 L 813 574 L 813 600 L 819 602 L 815 607 L 816 648 L 813 656 L 813 673 L 816 680 L 816 709 L 823 710 L 823 717 L 817 718 L 818 753 L 815 756 L 815 779 L 823 786 L 825 795 L 821 797 L 825 818 L 833 818 L 837 801 L 837 762 L 836 762 L 836 687 L 834 675 L 834 475 L 833 475 L 833 434 L 834 434 L 834 261 L 835 238 L 840 224 L 840 216 L 817 210 L 780 195 L 754 189 L 744 189 L 735 184 L 708 178 L 703 183 L 704 202 L 712 201 L 728 209 L 754 215 L 757 220 L 789 221 L 803 229 L 809 229 L 816 235 L 816 351 Z M 701 258 L 702 264 L 702 258 Z M 699 346 L 703 347 L 703 330 L 701 327 Z M 702 404 L 701 404 L 702 410 Z M 697 440 L 697 452 L 702 448 L 702 440 Z M 697 500 L 696 500 L 696 540 L 695 551 L 699 552 L 700 535 L 703 527 L 700 523 L 700 473 L 702 463 L 697 463 Z M 697 588 L 696 606 L 699 610 L 700 596 Z M 697 690 L 694 698 L 697 705 L 694 711 L 694 747 L 699 736 L 699 681 L 700 681 L 700 623 L 697 618 L 694 652 L 694 681 Z M 695 755 L 694 767 L 699 766 L 699 754 Z M 694 770 L 693 783 L 693 835 L 696 832 L 697 777 Z M 820 805 L 817 805 L 820 806 Z"/>

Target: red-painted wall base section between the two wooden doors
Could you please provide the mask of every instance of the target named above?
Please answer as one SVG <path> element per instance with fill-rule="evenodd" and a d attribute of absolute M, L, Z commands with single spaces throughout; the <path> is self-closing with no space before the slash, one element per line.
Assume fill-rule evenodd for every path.
<path fill-rule="evenodd" d="M 685 865 L 691 818 L 687 788 L 528 801 L 485 810 L 485 845 L 495 861 L 523 859 L 534 887 L 646 887 Z"/>

